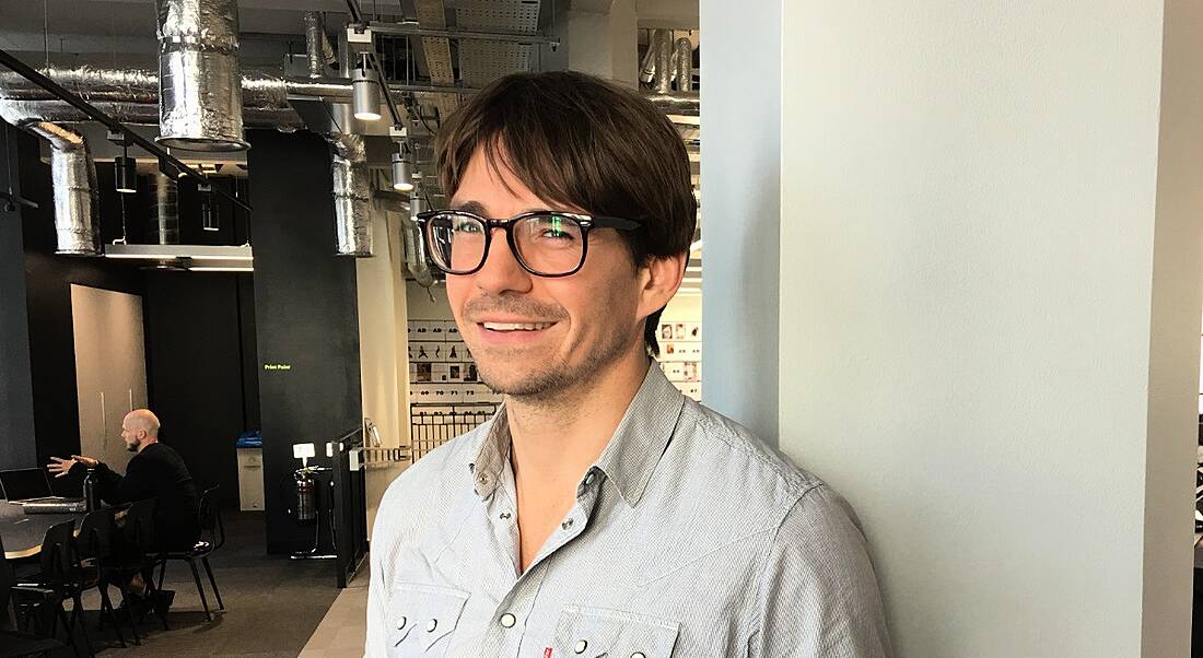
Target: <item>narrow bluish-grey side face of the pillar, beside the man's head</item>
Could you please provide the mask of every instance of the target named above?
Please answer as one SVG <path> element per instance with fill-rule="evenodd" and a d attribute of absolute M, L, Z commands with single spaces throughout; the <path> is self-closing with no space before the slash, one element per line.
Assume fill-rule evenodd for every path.
<path fill-rule="evenodd" d="M 701 0 L 703 403 L 777 441 L 781 4 Z"/>

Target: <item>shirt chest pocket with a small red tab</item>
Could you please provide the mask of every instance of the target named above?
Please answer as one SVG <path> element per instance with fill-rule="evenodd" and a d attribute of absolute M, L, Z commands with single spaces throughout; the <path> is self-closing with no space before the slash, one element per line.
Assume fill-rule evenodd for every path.
<path fill-rule="evenodd" d="M 556 624 L 553 656 L 670 658 L 681 624 L 647 615 L 568 606 Z"/>

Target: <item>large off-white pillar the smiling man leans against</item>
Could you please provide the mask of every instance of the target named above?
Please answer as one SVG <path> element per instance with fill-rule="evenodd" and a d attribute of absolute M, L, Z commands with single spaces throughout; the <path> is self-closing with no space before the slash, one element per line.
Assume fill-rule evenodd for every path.
<path fill-rule="evenodd" d="M 705 230 L 735 233 L 706 241 L 705 306 L 753 308 L 718 297 L 721 262 L 780 290 L 737 321 L 778 322 L 780 445 L 858 510 L 899 656 L 1187 656 L 1203 7 L 765 5 L 736 48 L 701 0 L 704 99 L 745 108 L 703 106 Z M 757 11 L 784 35 L 768 283 L 743 247 L 761 218 L 727 214 L 759 190 L 706 178 L 777 102 L 716 66 L 760 65 Z M 722 409 L 748 345 L 716 315 Z"/>

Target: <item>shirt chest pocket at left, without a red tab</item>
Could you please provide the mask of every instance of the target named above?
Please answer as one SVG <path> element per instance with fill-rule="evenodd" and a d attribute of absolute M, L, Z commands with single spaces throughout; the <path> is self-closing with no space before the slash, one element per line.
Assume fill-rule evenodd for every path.
<path fill-rule="evenodd" d="M 401 583 L 389 594 L 389 656 L 446 654 L 468 593 L 438 585 Z"/>

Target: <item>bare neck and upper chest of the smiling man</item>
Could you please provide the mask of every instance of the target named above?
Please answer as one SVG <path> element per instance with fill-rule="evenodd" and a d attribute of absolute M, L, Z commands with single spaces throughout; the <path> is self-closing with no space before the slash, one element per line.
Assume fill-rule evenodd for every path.
<path fill-rule="evenodd" d="M 518 485 L 575 491 L 576 481 L 610 443 L 648 364 L 642 351 L 624 356 L 598 373 L 587 390 L 559 404 L 508 398 L 510 461 Z"/>

